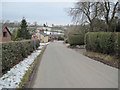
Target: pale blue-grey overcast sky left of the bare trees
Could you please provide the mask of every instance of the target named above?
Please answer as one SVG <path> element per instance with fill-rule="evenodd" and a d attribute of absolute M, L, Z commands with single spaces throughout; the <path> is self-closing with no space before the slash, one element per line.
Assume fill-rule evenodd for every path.
<path fill-rule="evenodd" d="M 2 20 L 21 21 L 25 17 L 28 22 L 39 24 L 71 24 L 71 17 L 66 9 L 75 2 L 2 2 Z"/>

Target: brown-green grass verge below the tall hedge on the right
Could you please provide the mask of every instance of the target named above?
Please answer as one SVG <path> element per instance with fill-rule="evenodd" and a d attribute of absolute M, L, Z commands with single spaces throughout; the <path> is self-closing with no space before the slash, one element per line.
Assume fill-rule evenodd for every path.
<path fill-rule="evenodd" d="M 96 53 L 96 52 L 84 52 L 83 54 L 89 58 L 92 58 L 94 60 L 107 64 L 109 66 L 120 69 L 119 58 L 117 58 L 116 56 L 111 56 L 111 55 Z"/>

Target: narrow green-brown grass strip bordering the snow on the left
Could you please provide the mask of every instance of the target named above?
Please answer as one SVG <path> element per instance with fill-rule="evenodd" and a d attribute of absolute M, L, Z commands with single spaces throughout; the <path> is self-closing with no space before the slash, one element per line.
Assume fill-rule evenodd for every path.
<path fill-rule="evenodd" d="M 39 58 L 41 57 L 41 55 L 45 51 L 45 49 L 46 49 L 46 46 L 44 46 L 42 48 L 41 53 L 35 58 L 34 62 L 30 65 L 30 68 L 28 69 L 28 71 L 26 71 L 25 75 L 21 79 L 21 83 L 19 84 L 19 88 L 26 88 L 26 86 L 27 86 L 28 82 L 30 81 L 30 78 L 31 78 L 31 76 L 33 74 L 35 66 L 36 66 Z"/>

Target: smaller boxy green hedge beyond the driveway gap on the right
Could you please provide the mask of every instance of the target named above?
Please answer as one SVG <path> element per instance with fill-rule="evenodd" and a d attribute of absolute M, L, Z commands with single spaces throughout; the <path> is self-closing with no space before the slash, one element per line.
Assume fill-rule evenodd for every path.
<path fill-rule="evenodd" d="M 72 45 L 84 45 L 84 34 L 69 34 L 68 43 Z"/>

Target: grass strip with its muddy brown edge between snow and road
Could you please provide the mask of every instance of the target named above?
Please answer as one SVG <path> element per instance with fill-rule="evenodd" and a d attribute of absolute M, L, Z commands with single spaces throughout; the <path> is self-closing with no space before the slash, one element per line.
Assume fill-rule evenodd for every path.
<path fill-rule="evenodd" d="M 21 82 L 19 84 L 19 88 L 31 88 L 31 85 L 33 83 L 34 80 L 34 76 L 36 74 L 36 70 L 38 69 L 38 66 L 40 64 L 40 59 L 42 58 L 42 55 L 45 51 L 47 46 L 44 46 L 41 49 L 40 54 L 35 58 L 34 62 L 30 65 L 30 68 L 28 69 L 28 71 L 25 73 L 25 75 L 23 76 L 23 78 L 21 79 Z"/>

